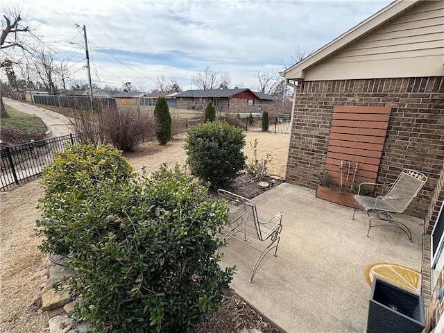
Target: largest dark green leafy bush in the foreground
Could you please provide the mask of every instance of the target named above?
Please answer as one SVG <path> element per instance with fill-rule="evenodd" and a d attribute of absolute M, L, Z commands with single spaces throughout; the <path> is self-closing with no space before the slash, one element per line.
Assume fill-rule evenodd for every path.
<path fill-rule="evenodd" d="M 78 318 L 100 332 L 185 332 L 216 311 L 232 279 L 214 257 L 228 223 L 223 201 L 205 200 L 206 187 L 165 165 L 151 178 L 88 189 L 58 234 L 72 244 Z"/>

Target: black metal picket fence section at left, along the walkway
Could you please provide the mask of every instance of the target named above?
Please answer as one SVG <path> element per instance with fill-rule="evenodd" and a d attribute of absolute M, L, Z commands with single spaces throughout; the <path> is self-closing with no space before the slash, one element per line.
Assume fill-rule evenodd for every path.
<path fill-rule="evenodd" d="M 67 144 L 78 142 L 78 136 L 71 134 L 2 148 L 0 191 L 40 176 L 43 168 L 53 161 L 55 153 L 65 151 Z"/>

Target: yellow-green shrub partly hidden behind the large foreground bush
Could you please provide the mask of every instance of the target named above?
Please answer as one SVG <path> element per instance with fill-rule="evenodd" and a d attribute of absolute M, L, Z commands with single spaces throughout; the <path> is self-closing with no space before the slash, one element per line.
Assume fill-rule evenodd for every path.
<path fill-rule="evenodd" d="M 94 189 L 101 182 L 112 180 L 118 186 L 132 177 L 133 167 L 121 151 L 111 146 L 95 148 L 92 144 L 75 144 L 57 153 L 53 162 L 43 169 L 44 198 L 39 200 L 42 220 L 37 221 L 40 234 L 45 236 L 41 250 L 67 255 L 72 244 L 61 235 L 73 232 L 76 237 L 78 205 L 94 196 Z"/>

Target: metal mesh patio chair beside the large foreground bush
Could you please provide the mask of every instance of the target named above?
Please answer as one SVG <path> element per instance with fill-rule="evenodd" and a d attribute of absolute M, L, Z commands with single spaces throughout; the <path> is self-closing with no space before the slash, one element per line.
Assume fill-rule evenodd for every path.
<path fill-rule="evenodd" d="M 230 209 L 230 227 L 222 241 L 232 237 L 261 253 L 251 272 L 249 282 L 253 282 L 257 268 L 267 253 L 274 248 L 274 256 L 278 256 L 280 232 L 282 231 L 282 213 L 279 212 L 270 219 L 264 220 L 257 215 L 256 205 L 252 200 L 223 189 L 218 189 L 217 193 L 219 198 L 228 200 L 228 208 Z M 244 234 L 244 237 L 237 237 L 239 233 Z M 247 236 L 259 241 L 270 241 L 270 244 L 264 249 L 257 248 L 253 244 L 248 244 Z M 220 251 L 221 248 L 219 248 L 217 255 Z"/>

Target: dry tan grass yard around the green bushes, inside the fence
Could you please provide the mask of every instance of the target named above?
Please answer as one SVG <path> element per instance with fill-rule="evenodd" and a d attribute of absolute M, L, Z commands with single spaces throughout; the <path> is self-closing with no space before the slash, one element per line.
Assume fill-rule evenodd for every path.
<path fill-rule="evenodd" d="M 257 157 L 271 153 L 268 171 L 283 176 L 288 135 L 248 133 L 244 153 L 253 156 L 248 142 L 257 139 Z M 139 171 L 148 171 L 162 163 L 185 164 L 184 138 L 178 137 L 166 146 L 156 142 L 140 144 L 134 153 L 126 154 Z M 248 162 L 248 161 L 247 161 Z M 40 239 L 35 236 L 35 220 L 40 213 L 37 198 L 43 196 L 40 180 L 33 180 L 0 194 L 0 332 L 44 332 L 48 319 L 40 311 L 40 280 L 46 273 L 46 256 L 37 250 Z"/>

